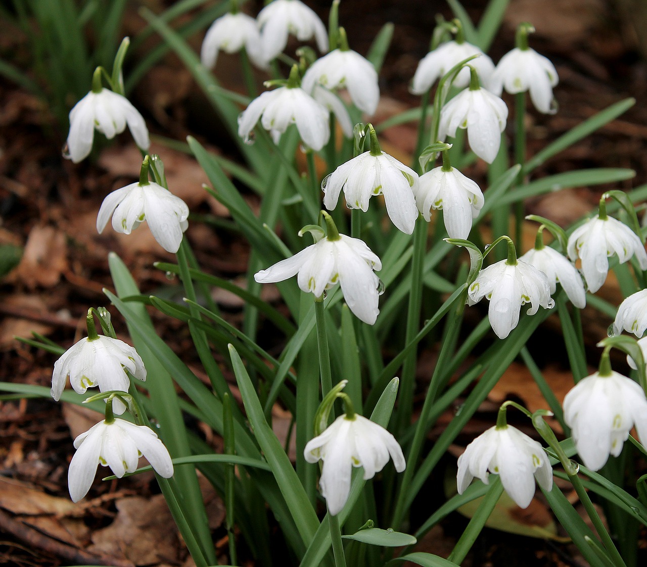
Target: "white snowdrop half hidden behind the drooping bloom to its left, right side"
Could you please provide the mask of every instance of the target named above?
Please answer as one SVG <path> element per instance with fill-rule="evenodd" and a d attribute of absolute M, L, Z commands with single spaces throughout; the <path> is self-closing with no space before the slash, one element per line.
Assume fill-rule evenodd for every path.
<path fill-rule="evenodd" d="M 557 290 L 557 282 L 562 285 L 564 292 L 577 308 L 586 306 L 586 291 L 580 272 L 573 262 L 554 248 L 532 248 L 520 257 L 521 261 L 528 262 L 548 277 L 551 295 Z"/>

